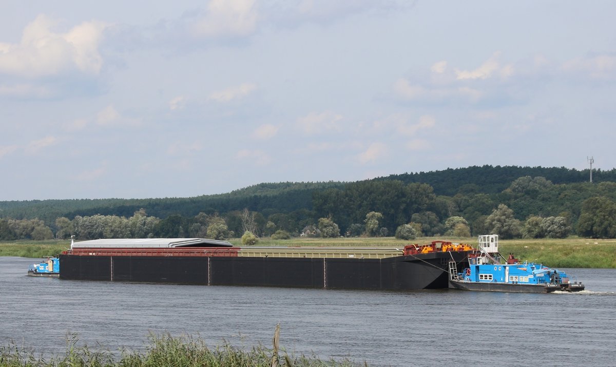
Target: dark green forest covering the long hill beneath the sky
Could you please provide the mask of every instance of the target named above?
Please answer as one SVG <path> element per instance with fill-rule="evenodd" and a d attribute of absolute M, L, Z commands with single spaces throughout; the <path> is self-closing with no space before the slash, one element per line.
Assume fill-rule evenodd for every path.
<path fill-rule="evenodd" d="M 192 198 L 0 201 L 0 240 L 208 236 L 616 236 L 616 169 L 472 166 Z M 405 233 L 405 234 L 403 234 Z"/>

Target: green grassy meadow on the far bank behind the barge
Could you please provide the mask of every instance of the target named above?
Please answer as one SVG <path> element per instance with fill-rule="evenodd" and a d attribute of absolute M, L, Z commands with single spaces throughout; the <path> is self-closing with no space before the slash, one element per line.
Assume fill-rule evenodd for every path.
<path fill-rule="evenodd" d="M 348 247 L 395 247 L 406 244 L 426 244 L 434 240 L 448 240 L 475 246 L 477 238 L 423 237 L 413 241 L 384 238 L 291 238 L 272 240 L 261 238 L 257 246 L 348 246 Z M 229 240 L 241 246 L 239 238 Z M 70 247 L 70 241 L 12 241 L 0 242 L 0 256 L 42 258 L 56 256 Z M 616 239 L 591 240 L 570 237 L 565 239 L 544 238 L 540 240 L 500 240 L 499 250 L 511 252 L 521 260 L 540 262 L 549 267 L 561 268 L 616 268 Z"/>

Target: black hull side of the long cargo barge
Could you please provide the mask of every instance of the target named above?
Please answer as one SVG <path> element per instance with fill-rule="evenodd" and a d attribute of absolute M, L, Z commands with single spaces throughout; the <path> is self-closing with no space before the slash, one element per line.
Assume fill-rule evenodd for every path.
<path fill-rule="evenodd" d="M 346 289 L 448 288 L 468 252 L 387 259 L 60 255 L 60 279 Z"/>

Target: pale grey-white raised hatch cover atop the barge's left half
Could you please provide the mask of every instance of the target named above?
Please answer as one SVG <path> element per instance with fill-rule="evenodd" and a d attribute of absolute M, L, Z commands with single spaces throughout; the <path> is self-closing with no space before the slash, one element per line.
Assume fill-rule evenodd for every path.
<path fill-rule="evenodd" d="M 104 238 L 78 241 L 73 248 L 176 248 L 176 247 L 231 247 L 227 241 L 206 238 Z"/>

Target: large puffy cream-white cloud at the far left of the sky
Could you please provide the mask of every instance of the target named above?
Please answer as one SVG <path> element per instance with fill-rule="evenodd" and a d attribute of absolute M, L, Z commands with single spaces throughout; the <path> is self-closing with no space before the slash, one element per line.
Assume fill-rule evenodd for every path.
<path fill-rule="evenodd" d="M 39 15 L 24 30 L 18 44 L 0 43 L 0 73 L 36 78 L 66 70 L 97 75 L 102 67 L 99 42 L 105 23 L 92 21 L 55 33 L 57 21 Z"/>

